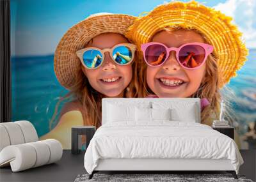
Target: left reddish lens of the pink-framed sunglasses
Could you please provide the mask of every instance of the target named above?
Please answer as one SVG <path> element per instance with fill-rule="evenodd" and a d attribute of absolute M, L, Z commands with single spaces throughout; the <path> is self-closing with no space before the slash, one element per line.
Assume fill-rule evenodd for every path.
<path fill-rule="evenodd" d="M 166 59 L 166 49 L 163 45 L 149 45 L 145 50 L 145 59 L 151 66 L 157 66 Z"/>

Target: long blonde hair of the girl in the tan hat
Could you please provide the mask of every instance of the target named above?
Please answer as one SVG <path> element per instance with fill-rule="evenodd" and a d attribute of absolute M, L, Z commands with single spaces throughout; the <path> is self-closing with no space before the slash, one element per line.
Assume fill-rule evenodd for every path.
<path fill-rule="evenodd" d="M 136 54 L 136 53 L 135 53 Z M 125 98 L 134 98 L 138 97 L 139 95 L 139 84 L 138 84 L 138 61 L 136 60 L 138 54 L 134 56 L 134 60 L 132 61 L 132 80 L 129 85 L 124 90 L 124 97 Z M 78 59 L 78 58 L 77 58 Z M 82 66 L 82 65 L 81 65 Z M 50 121 L 50 130 L 52 128 L 52 124 L 54 123 L 54 119 L 58 118 L 58 107 L 60 102 L 63 100 L 72 99 L 73 101 L 79 102 L 83 108 L 80 110 L 83 115 L 84 125 L 92 125 L 99 128 L 101 125 L 101 103 L 102 98 L 106 97 L 93 89 L 90 85 L 86 75 L 84 75 L 83 70 L 77 70 L 75 81 L 72 87 L 70 87 L 70 92 L 61 97 L 58 103 L 56 104 L 54 114 Z"/>

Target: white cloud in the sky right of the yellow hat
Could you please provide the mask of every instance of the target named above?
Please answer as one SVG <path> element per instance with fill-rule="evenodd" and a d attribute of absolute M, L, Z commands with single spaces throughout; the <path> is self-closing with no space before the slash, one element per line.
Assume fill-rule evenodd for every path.
<path fill-rule="evenodd" d="M 256 28 L 253 27 L 253 20 L 256 17 L 255 0 L 227 0 L 225 3 L 219 3 L 213 8 L 233 17 L 233 22 L 237 24 L 239 30 L 243 33 L 246 46 L 256 48 Z"/>

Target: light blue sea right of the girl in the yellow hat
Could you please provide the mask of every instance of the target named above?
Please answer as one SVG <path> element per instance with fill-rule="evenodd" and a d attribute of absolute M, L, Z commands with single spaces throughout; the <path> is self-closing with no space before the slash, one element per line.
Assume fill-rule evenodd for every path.
<path fill-rule="evenodd" d="M 232 108 L 238 119 L 239 134 L 243 135 L 248 123 L 256 122 L 256 49 L 250 50 L 248 61 L 227 86 L 234 91 Z"/>

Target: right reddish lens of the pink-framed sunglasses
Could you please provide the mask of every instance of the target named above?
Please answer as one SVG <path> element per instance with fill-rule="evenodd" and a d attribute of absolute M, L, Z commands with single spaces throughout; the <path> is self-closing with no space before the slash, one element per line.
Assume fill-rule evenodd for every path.
<path fill-rule="evenodd" d="M 205 50 L 200 45 L 186 45 L 180 49 L 179 61 L 186 68 L 200 66 L 205 57 Z"/>

